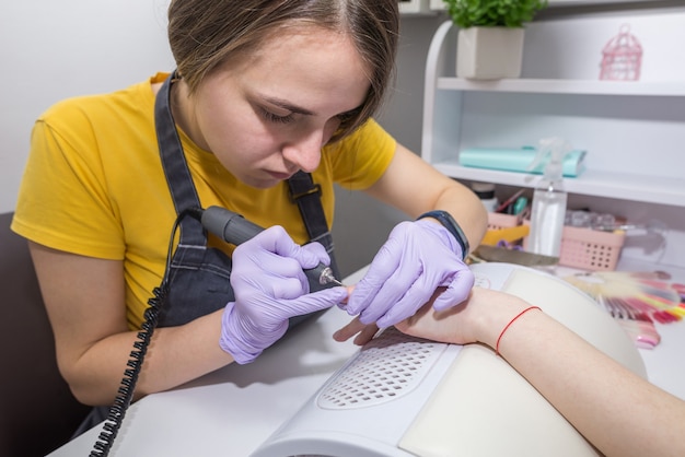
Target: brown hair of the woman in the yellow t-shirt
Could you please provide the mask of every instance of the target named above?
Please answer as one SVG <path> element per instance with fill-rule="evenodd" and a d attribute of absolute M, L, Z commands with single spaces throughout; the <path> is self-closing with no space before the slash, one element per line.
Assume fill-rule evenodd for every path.
<path fill-rule="evenodd" d="M 230 58 L 248 55 L 277 32 L 300 24 L 348 34 L 369 70 L 367 97 L 359 112 L 342 119 L 335 141 L 383 102 L 395 70 L 397 0 L 172 0 L 169 7 L 171 50 L 190 92 Z"/>

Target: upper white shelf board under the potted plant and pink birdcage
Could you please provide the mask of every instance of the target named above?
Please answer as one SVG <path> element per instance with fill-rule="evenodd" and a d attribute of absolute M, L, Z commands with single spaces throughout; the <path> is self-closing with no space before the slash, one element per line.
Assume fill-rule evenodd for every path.
<path fill-rule="evenodd" d="M 519 92 L 569 95 L 685 96 L 685 82 L 515 79 L 472 81 L 438 78 L 437 89 L 474 92 Z"/>

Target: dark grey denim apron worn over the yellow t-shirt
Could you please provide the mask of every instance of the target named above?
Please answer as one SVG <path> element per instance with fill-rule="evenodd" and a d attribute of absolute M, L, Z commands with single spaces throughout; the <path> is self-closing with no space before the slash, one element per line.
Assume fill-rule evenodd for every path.
<path fill-rule="evenodd" d="M 188 208 L 201 208 L 201 206 L 170 108 L 171 85 L 175 78 L 174 72 L 164 81 L 156 95 L 154 121 L 162 166 L 176 213 L 181 214 Z M 330 256 L 330 268 L 335 277 L 339 279 L 340 273 L 334 258 L 333 238 L 321 204 L 321 187 L 312 181 L 310 174 L 302 172 L 291 177 L 288 185 L 291 201 L 300 209 L 310 239 L 324 245 Z M 229 280 L 231 258 L 221 249 L 207 246 L 207 234 L 196 219 L 183 218 L 179 230 L 179 242 L 170 263 L 169 288 L 160 309 L 158 327 L 187 324 L 223 308 L 227 303 L 234 300 Z M 330 285 L 321 285 L 310 280 L 312 292 Z M 290 319 L 291 327 L 307 317 L 310 316 Z M 109 407 L 93 408 L 73 437 L 107 419 L 108 412 Z"/>

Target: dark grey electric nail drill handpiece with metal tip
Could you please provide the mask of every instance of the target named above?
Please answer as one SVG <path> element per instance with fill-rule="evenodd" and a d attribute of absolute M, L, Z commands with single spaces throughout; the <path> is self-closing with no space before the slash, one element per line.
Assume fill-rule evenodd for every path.
<path fill-rule="evenodd" d="M 190 213 L 200 221 L 207 231 L 219 236 L 224 242 L 236 246 L 264 231 L 259 225 L 221 207 L 209 207 L 205 210 L 197 209 L 197 211 L 194 209 Z M 307 278 L 317 281 L 322 285 L 332 283 L 342 285 L 333 274 L 330 267 L 326 267 L 324 263 L 318 263 L 315 268 L 306 269 L 304 273 Z"/>

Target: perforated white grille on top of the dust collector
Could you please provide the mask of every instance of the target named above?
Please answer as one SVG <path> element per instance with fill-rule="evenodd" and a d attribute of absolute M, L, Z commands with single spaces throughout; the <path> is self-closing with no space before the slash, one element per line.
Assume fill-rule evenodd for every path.
<path fill-rule="evenodd" d="M 352 409 L 399 398 L 421 382 L 446 347 L 388 328 L 320 394 L 317 405 Z"/>

